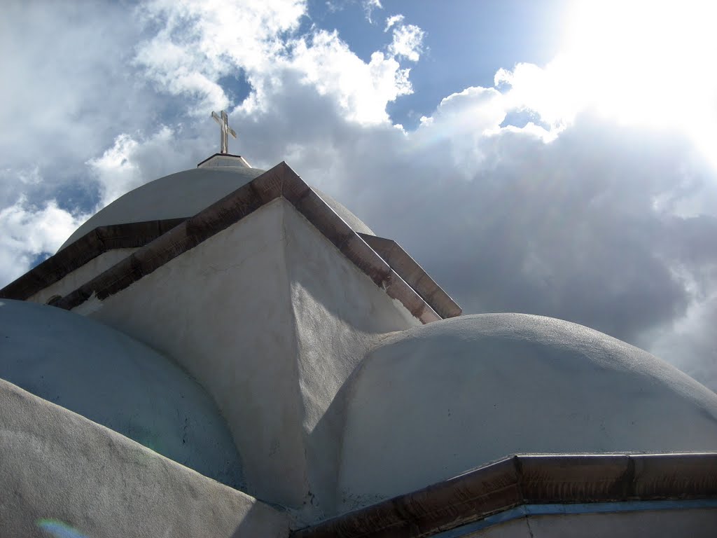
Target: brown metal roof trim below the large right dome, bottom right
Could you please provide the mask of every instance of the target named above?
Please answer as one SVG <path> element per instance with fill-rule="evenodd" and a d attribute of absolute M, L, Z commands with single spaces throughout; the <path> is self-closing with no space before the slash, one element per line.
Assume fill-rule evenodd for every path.
<path fill-rule="evenodd" d="M 717 499 L 717 453 L 511 456 L 290 538 L 423 538 L 523 504 L 665 499 Z"/>

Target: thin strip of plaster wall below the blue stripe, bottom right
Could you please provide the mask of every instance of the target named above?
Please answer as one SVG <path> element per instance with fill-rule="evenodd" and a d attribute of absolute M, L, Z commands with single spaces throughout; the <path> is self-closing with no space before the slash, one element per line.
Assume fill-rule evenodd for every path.
<path fill-rule="evenodd" d="M 711 538 L 715 529 L 715 509 L 645 510 L 528 516 L 462 538 Z"/>

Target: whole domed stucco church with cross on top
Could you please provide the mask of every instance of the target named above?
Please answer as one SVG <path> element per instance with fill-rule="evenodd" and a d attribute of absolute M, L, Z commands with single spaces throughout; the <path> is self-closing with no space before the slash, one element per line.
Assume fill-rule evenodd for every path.
<path fill-rule="evenodd" d="M 714 535 L 714 392 L 585 326 L 462 315 L 213 115 L 220 153 L 0 290 L 0 536 Z"/>

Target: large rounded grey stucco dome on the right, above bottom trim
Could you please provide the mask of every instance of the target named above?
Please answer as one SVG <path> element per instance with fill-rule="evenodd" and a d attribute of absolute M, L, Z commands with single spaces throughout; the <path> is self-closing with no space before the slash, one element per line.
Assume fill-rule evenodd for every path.
<path fill-rule="evenodd" d="M 513 453 L 717 448 L 717 395 L 554 318 L 463 316 L 386 336 L 348 390 L 343 509 Z"/>

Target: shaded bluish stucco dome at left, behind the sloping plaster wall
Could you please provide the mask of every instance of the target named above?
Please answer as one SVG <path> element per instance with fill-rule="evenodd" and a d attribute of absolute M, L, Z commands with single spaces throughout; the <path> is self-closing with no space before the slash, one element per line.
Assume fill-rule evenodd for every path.
<path fill-rule="evenodd" d="M 170 360 L 96 321 L 0 301 L 0 378 L 210 478 L 243 485 L 212 398 Z"/>

